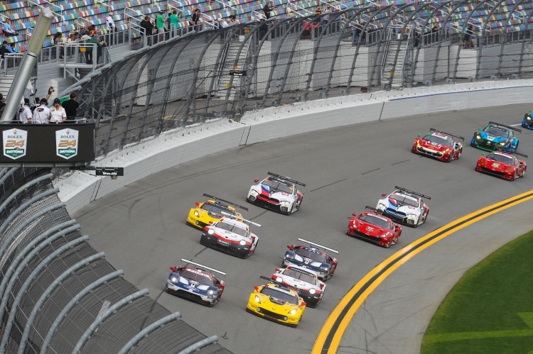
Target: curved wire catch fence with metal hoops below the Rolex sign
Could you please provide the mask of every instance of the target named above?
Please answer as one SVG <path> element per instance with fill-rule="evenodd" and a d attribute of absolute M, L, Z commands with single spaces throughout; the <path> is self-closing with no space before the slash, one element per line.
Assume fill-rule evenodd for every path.
<path fill-rule="evenodd" d="M 52 178 L 46 169 L 0 169 L 0 353 L 119 353 L 171 314 L 146 291 L 132 297 L 139 290 L 87 243 Z M 206 338 L 178 316 L 152 327 L 132 350 L 178 353 Z M 229 352 L 214 343 L 200 353 Z"/>

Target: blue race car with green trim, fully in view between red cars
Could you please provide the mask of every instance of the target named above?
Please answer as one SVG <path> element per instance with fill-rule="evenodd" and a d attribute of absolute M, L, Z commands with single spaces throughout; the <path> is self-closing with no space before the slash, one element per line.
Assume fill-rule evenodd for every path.
<path fill-rule="evenodd" d="M 490 152 L 502 150 L 514 153 L 519 143 L 515 132 L 522 133 L 520 129 L 495 122 L 489 122 L 484 129 L 478 130 L 474 133 L 470 146 Z"/>

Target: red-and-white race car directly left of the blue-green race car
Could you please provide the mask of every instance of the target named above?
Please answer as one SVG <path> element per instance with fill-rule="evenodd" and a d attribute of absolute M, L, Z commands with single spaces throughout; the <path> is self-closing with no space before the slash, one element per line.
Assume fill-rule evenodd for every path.
<path fill-rule="evenodd" d="M 465 140 L 462 136 L 431 128 L 429 133 L 424 135 L 424 138 L 419 135 L 414 139 L 411 152 L 435 157 L 437 160 L 445 162 L 457 160 L 463 152 L 463 145 L 451 137 Z"/>

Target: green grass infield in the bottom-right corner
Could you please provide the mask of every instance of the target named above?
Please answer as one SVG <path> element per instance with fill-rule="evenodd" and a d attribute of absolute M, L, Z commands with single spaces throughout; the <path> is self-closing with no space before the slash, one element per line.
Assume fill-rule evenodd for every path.
<path fill-rule="evenodd" d="M 446 295 L 422 354 L 533 350 L 533 231 L 468 270 Z"/>

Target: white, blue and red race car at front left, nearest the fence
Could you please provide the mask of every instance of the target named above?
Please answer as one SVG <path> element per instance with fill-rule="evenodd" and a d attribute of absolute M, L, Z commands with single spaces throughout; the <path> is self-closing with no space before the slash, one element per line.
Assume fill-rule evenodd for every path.
<path fill-rule="evenodd" d="M 185 262 L 185 266 L 171 267 L 172 272 L 168 275 L 165 285 L 166 292 L 190 299 L 193 302 L 215 306 L 220 301 L 220 297 L 222 297 L 225 284 L 205 270 L 217 272 L 221 275 L 226 275 L 226 273 L 190 260 L 182 259 L 181 261 Z M 195 265 L 196 267 L 190 267 L 189 265 Z"/>

